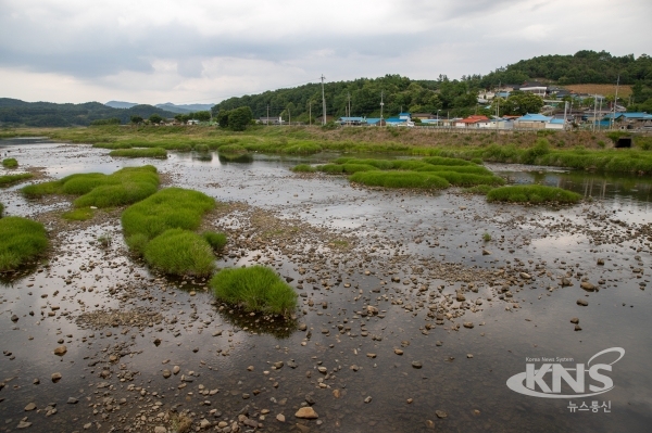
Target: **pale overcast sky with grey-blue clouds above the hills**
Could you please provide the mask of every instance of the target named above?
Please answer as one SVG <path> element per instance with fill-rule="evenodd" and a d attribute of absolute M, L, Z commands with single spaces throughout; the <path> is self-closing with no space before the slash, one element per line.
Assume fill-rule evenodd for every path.
<path fill-rule="evenodd" d="M 0 97 L 211 103 L 326 80 L 652 54 L 650 0 L 0 0 Z M 647 50 L 647 51 L 645 51 Z"/>

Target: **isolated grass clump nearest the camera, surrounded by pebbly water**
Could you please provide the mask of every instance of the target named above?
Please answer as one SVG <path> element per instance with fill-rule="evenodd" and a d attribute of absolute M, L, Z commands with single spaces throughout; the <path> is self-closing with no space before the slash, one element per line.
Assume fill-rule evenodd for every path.
<path fill-rule="evenodd" d="M 297 308 L 297 293 L 264 266 L 224 269 L 210 281 L 215 297 L 249 311 L 287 316 Z"/>

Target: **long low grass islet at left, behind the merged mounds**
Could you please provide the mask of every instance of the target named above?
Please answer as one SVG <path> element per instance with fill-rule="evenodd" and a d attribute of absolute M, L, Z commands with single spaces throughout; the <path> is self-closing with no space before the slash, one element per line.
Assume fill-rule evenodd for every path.
<path fill-rule="evenodd" d="M 151 165 L 126 167 L 112 175 L 88 173 L 66 176 L 22 189 L 27 198 L 48 194 L 80 195 L 75 207 L 112 207 L 136 203 L 156 192 L 159 175 Z"/>

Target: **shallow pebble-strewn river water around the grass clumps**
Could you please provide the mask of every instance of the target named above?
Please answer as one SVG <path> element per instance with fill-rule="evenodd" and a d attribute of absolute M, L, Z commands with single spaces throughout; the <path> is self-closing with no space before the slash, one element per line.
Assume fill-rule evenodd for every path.
<path fill-rule="evenodd" d="M 43 215 L 70 201 L 26 201 L 21 186 L 0 190 L 8 215 L 43 220 L 58 239 L 47 264 L 2 279 L 0 432 L 25 417 L 34 432 L 154 431 L 172 425 L 170 413 L 215 430 L 224 421 L 229 431 L 240 412 L 260 422 L 256 431 L 279 432 L 650 431 L 648 178 L 489 165 L 511 182 L 560 186 L 587 199 L 553 208 L 488 204 L 455 190 L 369 190 L 289 171 L 336 154 L 117 160 L 59 143 L 7 143 L 0 152 L 16 157 L 18 170 L 39 167 L 51 178 L 152 164 L 167 184 L 238 203 L 211 221 L 231 235 L 218 266 L 250 265 L 260 254 L 302 294 L 294 323 L 220 309 L 203 281 L 167 279 L 134 260 L 115 212 L 97 222 L 53 222 Z M 267 232 L 265 221 L 280 226 Z M 281 234 L 283 221 L 293 235 Z M 248 247 L 239 229 L 267 237 L 266 247 Z M 113 235 L 109 250 L 91 243 L 99 233 Z M 562 277 L 573 285 L 561 285 Z M 582 290 L 582 280 L 598 290 Z M 367 305 L 379 314 L 366 315 Z M 78 320 L 136 308 L 162 319 L 104 328 Z M 60 344 L 63 357 L 52 354 Z M 593 387 L 611 386 L 589 368 L 619 355 L 589 360 L 614 347 L 624 356 L 600 371 L 613 387 L 597 394 Z M 552 373 L 530 386 L 538 395 L 513 391 L 507 380 L 527 364 L 561 364 L 573 379 L 581 364 L 586 383 L 576 387 L 585 391 L 564 380 L 554 390 Z M 165 379 L 174 365 L 179 374 Z M 62 374 L 57 383 L 54 372 Z M 30 403 L 36 409 L 26 411 Z M 297 419 L 309 404 L 318 419 Z"/>

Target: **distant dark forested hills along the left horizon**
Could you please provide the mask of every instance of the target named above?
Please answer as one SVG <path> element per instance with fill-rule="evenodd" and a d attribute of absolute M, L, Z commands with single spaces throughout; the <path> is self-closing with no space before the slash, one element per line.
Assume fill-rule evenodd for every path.
<path fill-rule="evenodd" d="M 128 124 L 131 116 L 148 118 L 154 113 L 166 118 L 175 116 L 175 113 L 152 105 L 113 109 L 99 102 L 55 104 L 0 98 L 2 126 L 88 126 L 92 120 L 109 118 L 118 118 L 122 124 Z"/>

